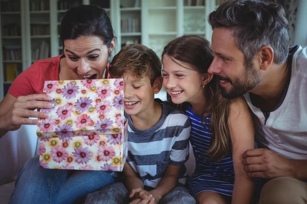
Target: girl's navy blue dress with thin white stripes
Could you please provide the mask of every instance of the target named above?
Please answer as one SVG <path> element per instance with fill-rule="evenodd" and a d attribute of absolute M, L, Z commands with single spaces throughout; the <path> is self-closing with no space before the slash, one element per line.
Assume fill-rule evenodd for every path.
<path fill-rule="evenodd" d="M 207 154 L 210 147 L 211 132 L 210 116 L 202 123 L 202 118 L 196 115 L 190 107 L 186 114 L 191 119 L 190 142 L 196 162 L 195 172 L 188 180 L 189 190 L 192 196 L 202 191 L 214 191 L 232 196 L 234 185 L 234 168 L 232 162 L 232 149 L 229 145 L 227 156 L 220 162 L 209 161 Z"/>

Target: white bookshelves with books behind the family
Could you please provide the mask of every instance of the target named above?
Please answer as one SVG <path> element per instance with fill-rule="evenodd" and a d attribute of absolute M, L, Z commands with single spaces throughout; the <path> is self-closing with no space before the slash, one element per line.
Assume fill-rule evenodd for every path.
<path fill-rule="evenodd" d="M 0 1 L 0 100 L 11 81 L 36 59 L 63 53 L 60 21 L 74 6 L 91 4 L 105 9 L 116 36 L 111 61 L 125 44 L 142 43 L 161 57 L 164 46 L 182 35 L 201 35 L 211 41 L 207 15 L 223 2 L 225 0 Z M 6 75 L 6 69 L 11 75 Z"/>

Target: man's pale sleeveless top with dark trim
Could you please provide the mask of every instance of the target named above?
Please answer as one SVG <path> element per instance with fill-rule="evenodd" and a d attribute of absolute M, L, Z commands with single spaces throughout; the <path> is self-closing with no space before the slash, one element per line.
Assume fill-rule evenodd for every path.
<path fill-rule="evenodd" d="M 272 112 L 265 114 L 253 106 L 249 93 L 244 97 L 252 111 L 259 148 L 289 159 L 307 159 L 307 47 L 292 47 L 289 55 L 293 57 L 288 60 L 287 87 Z"/>

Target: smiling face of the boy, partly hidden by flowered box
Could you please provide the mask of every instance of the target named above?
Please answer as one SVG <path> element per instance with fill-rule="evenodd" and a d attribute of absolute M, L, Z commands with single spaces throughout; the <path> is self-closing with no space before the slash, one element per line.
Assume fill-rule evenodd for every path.
<path fill-rule="evenodd" d="M 156 86 L 157 80 L 151 86 L 149 77 L 134 78 L 132 74 L 124 74 L 124 105 L 128 115 L 138 115 L 148 108 L 153 108 L 154 94 L 161 89 Z M 159 80 L 158 80 L 159 81 Z M 158 91 L 158 92 L 157 92 Z"/>

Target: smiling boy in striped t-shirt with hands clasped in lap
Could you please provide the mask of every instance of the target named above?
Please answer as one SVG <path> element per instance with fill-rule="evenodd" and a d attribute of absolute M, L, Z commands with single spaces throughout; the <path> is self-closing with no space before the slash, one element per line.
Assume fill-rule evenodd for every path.
<path fill-rule="evenodd" d="M 161 69 L 156 53 L 140 44 L 124 46 L 112 60 L 111 77 L 124 79 L 125 181 L 89 194 L 86 202 L 195 203 L 184 188 L 190 120 L 166 101 L 155 100 L 163 83 Z"/>

